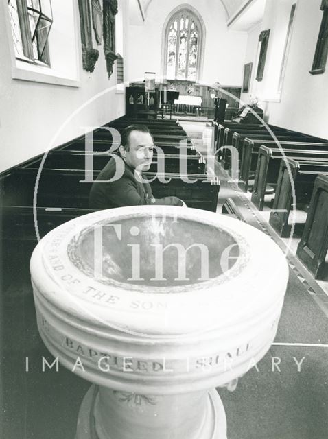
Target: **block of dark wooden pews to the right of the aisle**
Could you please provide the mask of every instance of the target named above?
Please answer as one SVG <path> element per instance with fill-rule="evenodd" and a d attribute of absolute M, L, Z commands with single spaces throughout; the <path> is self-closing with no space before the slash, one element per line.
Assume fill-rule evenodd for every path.
<path fill-rule="evenodd" d="M 274 193 L 269 222 L 289 237 L 294 206 L 307 213 L 297 257 L 316 278 L 328 274 L 328 141 L 264 125 L 221 123 L 216 130 L 218 161 L 251 201 L 263 210 Z M 224 207 L 234 213 L 232 200 Z"/>

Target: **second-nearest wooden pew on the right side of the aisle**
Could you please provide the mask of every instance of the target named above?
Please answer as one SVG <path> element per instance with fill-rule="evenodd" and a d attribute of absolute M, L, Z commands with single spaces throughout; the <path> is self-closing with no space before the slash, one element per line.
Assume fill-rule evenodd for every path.
<path fill-rule="evenodd" d="M 327 162 L 295 161 L 292 158 L 281 161 L 276 195 L 269 219 L 271 226 L 281 237 L 288 237 L 290 231 L 288 218 L 292 209 L 292 183 L 295 188 L 296 203 L 309 204 L 314 180 L 318 175 L 326 174 L 328 174 Z"/>

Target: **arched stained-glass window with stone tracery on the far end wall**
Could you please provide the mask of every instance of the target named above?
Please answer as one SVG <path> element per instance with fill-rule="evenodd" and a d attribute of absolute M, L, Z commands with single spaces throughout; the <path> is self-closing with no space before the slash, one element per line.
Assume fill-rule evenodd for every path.
<path fill-rule="evenodd" d="M 200 79 L 203 26 L 189 8 L 179 9 L 165 27 L 164 75 L 168 79 L 196 81 Z"/>

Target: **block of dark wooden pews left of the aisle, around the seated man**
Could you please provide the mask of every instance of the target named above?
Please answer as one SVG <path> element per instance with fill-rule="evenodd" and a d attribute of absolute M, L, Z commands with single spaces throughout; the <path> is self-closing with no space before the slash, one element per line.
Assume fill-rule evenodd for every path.
<path fill-rule="evenodd" d="M 150 180 L 154 197 L 176 195 L 187 206 L 216 211 L 220 182 L 214 176 L 207 176 L 204 157 L 196 151 L 180 124 L 124 117 L 93 131 L 93 150 L 86 149 L 86 137 L 81 136 L 2 174 L 3 238 L 30 239 L 35 244 L 35 225 L 42 237 L 51 228 L 90 213 L 92 180 L 108 163 L 115 147 L 108 128 L 121 132 L 131 123 L 146 124 L 154 144 L 160 148 L 154 153 L 150 171 L 144 173 L 144 178 Z M 159 174 L 157 161 L 163 156 L 164 167 Z M 181 159 L 185 163 L 185 175 L 180 173 Z"/>

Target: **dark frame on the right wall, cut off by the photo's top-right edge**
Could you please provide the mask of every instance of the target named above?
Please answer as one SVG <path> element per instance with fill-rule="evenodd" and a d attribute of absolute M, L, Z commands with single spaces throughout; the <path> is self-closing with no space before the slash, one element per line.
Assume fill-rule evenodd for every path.
<path fill-rule="evenodd" d="M 309 71 L 312 75 L 320 75 L 325 72 L 328 58 L 328 0 L 322 1 L 320 10 L 323 10 L 323 18 L 316 42 L 312 69 Z"/>

